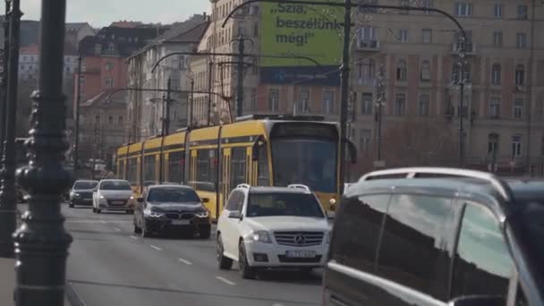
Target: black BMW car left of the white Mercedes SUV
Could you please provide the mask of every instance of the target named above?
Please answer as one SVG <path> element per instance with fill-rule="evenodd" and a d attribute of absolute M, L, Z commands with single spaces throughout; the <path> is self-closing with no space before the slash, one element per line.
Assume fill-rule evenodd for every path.
<path fill-rule="evenodd" d="M 138 198 L 134 233 L 149 237 L 158 233 L 198 234 L 208 239 L 211 219 L 197 193 L 189 186 L 150 185 Z"/>

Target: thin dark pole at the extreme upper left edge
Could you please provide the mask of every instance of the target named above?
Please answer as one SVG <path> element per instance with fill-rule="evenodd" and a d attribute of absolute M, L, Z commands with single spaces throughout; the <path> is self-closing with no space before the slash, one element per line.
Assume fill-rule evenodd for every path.
<path fill-rule="evenodd" d="M 7 69 L 8 69 L 8 62 L 10 59 L 10 44 L 9 44 L 9 37 L 10 37 L 10 18 L 9 13 L 11 9 L 11 2 L 4 2 L 5 4 L 5 15 L 4 15 L 4 55 L 3 55 L 3 70 L 2 73 L 2 98 L 1 98 L 1 105 L 0 105 L 0 158 L 4 156 L 4 140 L 5 140 L 5 122 L 7 120 L 6 118 L 6 107 L 7 107 Z"/>

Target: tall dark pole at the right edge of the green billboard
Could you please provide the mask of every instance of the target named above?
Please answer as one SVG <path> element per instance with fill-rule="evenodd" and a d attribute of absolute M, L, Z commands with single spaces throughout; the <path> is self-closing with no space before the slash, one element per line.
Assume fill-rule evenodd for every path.
<path fill-rule="evenodd" d="M 344 193 L 345 180 L 345 140 L 347 129 L 347 108 L 349 99 L 350 78 L 350 33 L 352 29 L 352 1 L 345 0 L 344 5 L 344 52 L 341 68 L 341 93 L 340 93 L 340 194 Z"/>

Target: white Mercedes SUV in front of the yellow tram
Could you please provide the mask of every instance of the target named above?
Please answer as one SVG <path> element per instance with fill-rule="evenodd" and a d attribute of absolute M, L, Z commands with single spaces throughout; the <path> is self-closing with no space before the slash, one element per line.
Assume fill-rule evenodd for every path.
<path fill-rule="evenodd" d="M 217 221 L 219 268 L 237 260 L 243 278 L 258 269 L 323 267 L 330 239 L 327 214 L 303 185 L 251 187 L 231 192 Z"/>

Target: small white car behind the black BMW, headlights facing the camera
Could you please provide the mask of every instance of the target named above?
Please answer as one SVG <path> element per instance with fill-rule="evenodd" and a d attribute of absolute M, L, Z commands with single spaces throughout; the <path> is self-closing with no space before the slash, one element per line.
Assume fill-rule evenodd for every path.
<path fill-rule="evenodd" d="M 132 214 L 134 211 L 134 191 L 131 183 L 125 180 L 102 180 L 93 190 L 93 212 L 102 210 L 125 211 Z"/>

